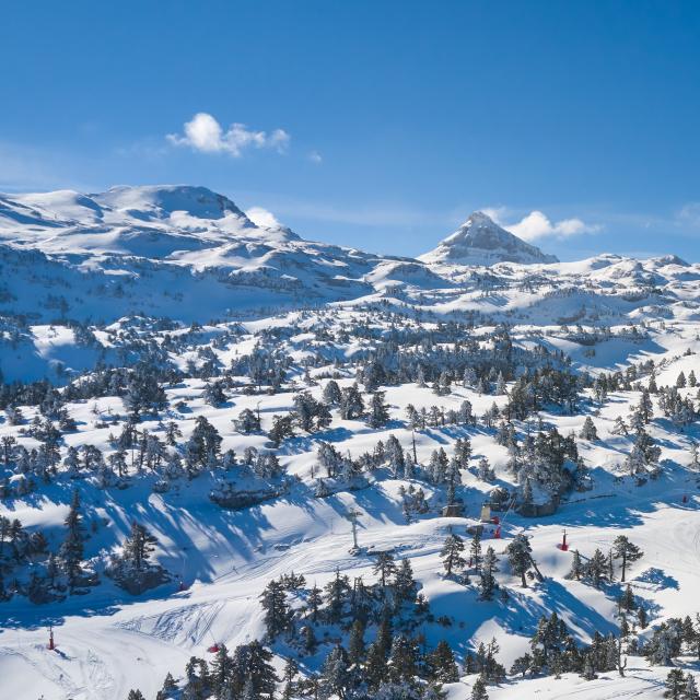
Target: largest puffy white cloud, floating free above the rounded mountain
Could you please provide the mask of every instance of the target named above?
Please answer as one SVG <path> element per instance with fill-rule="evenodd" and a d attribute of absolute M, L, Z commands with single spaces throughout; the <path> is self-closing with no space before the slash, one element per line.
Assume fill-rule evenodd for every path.
<path fill-rule="evenodd" d="M 241 158 L 249 148 L 276 149 L 283 152 L 289 144 L 290 136 L 283 129 L 275 131 L 253 131 L 245 124 L 232 124 L 228 130 L 206 112 L 196 114 L 184 127 L 185 135 L 168 133 L 167 140 L 175 145 L 187 145 L 202 153 L 228 153 Z"/>

